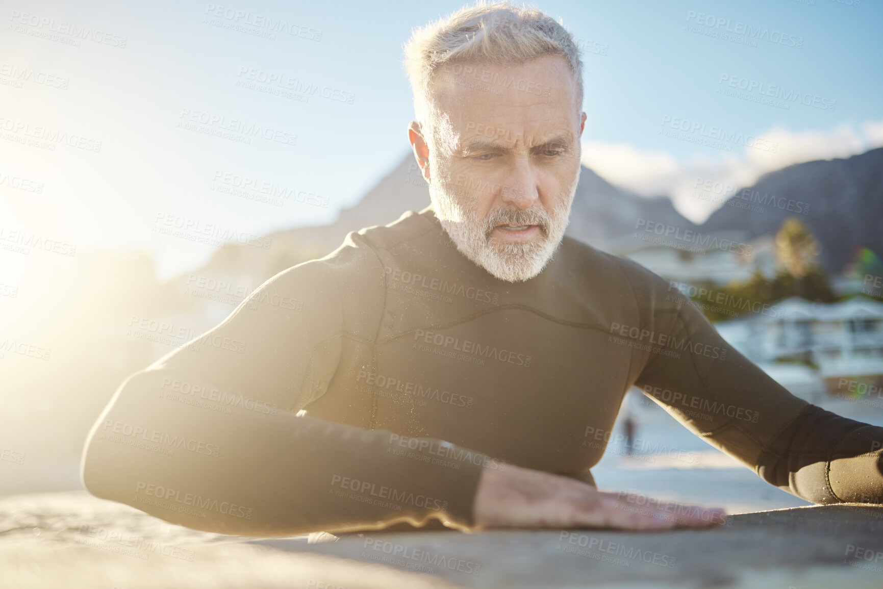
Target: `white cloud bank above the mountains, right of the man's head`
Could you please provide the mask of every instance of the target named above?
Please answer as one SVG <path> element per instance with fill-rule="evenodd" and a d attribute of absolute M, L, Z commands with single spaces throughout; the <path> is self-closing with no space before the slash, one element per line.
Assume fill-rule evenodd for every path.
<path fill-rule="evenodd" d="M 698 178 L 721 187 L 723 195 L 753 185 L 758 178 L 794 163 L 830 160 L 883 146 L 883 121 L 867 121 L 856 131 L 840 125 L 830 131 L 790 132 L 774 126 L 761 135 L 775 141 L 775 152 L 744 147 L 742 155 L 697 155 L 686 162 L 660 151 L 642 151 L 625 143 L 585 141 L 583 163 L 611 184 L 642 196 L 668 194 L 682 215 L 701 223 L 721 202 L 693 197 Z"/>

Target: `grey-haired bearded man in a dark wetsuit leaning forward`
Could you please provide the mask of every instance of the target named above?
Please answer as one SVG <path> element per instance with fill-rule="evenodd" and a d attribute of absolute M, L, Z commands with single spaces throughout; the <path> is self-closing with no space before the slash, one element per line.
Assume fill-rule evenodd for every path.
<path fill-rule="evenodd" d="M 883 429 L 791 396 L 659 276 L 562 238 L 585 125 L 562 26 L 466 8 L 414 34 L 407 66 L 432 206 L 282 272 L 125 381 L 87 442 L 94 495 L 257 535 L 721 521 L 594 487 L 634 385 L 771 484 L 883 501 Z"/>

